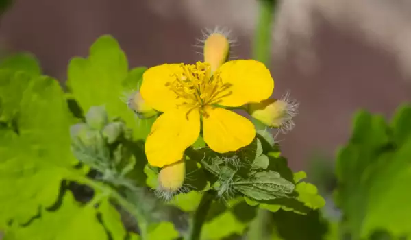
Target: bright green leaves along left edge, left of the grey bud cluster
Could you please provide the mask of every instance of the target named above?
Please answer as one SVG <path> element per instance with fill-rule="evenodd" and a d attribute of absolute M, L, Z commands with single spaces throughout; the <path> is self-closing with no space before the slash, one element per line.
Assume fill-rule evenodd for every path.
<path fill-rule="evenodd" d="M 107 193 L 95 191 L 92 202 L 82 205 L 65 190 L 66 180 L 87 182 L 70 149 L 75 120 L 58 82 L 32 71 L 38 68 L 27 58 L 21 61 L 23 71 L 17 71 L 16 58 L 0 69 L 0 228 L 5 239 L 122 239 L 125 229 Z"/>

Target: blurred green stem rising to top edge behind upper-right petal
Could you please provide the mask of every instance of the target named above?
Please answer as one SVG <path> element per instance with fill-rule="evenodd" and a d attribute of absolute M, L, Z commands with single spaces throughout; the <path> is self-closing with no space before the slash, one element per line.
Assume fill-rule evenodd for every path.
<path fill-rule="evenodd" d="M 273 21 L 273 9 L 275 3 L 277 3 L 276 0 L 259 0 L 259 18 L 253 43 L 254 60 L 264 63 L 267 67 L 270 64 L 271 23 Z"/>

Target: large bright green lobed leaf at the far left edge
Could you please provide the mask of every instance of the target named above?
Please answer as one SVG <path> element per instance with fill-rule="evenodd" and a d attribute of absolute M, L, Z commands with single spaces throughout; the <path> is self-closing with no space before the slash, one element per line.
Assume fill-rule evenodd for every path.
<path fill-rule="evenodd" d="M 9 82 L 9 84 L 11 84 Z M 25 79 L 10 108 L 18 112 L 15 128 L 0 128 L 0 226 L 23 224 L 55 202 L 64 178 L 79 173 L 70 150 L 73 117 L 58 82 Z"/>

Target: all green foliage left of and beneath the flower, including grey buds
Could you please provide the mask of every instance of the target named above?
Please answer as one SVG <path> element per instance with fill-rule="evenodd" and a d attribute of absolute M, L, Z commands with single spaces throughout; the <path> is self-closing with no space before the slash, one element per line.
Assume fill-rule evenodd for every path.
<path fill-rule="evenodd" d="M 301 182 L 305 173 L 292 173 L 266 130 L 227 154 L 212 152 L 200 136 L 186 151 L 184 188 L 160 201 L 153 191 L 159 169 L 144 154 L 155 117 L 136 119 L 121 99 L 138 91 L 144 71 L 129 71 L 111 36 L 99 38 L 88 58 L 71 60 L 69 94 L 42 76 L 31 55 L 0 62 L 5 239 L 171 240 L 190 234 L 190 218 L 200 219 L 201 239 L 235 239 L 258 209 L 307 214 L 323 206 L 316 187 Z"/>

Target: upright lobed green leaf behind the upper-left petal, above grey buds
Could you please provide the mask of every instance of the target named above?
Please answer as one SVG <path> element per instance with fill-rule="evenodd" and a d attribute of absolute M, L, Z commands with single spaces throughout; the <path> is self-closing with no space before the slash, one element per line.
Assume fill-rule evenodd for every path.
<path fill-rule="evenodd" d="M 84 112 L 91 106 L 103 105 L 110 117 L 121 117 L 133 129 L 136 139 L 145 139 L 155 118 L 136 119 L 127 100 L 121 99 L 138 88 L 144 71 L 145 68 L 129 71 L 119 43 L 112 36 L 101 36 L 90 48 L 88 58 L 71 60 L 67 85 Z"/>

